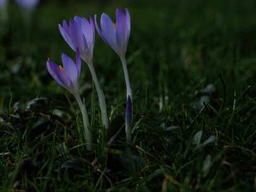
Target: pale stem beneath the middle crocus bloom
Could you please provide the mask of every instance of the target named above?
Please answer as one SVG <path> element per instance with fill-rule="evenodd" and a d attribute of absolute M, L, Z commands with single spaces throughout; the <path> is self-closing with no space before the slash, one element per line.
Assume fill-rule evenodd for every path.
<path fill-rule="evenodd" d="M 97 95 L 99 97 L 99 105 L 101 108 L 101 119 L 102 119 L 102 124 L 105 127 L 105 129 L 109 128 L 109 120 L 107 118 L 107 108 L 106 108 L 106 100 L 105 100 L 105 95 L 104 92 L 101 90 L 101 87 L 99 85 L 99 80 L 97 78 L 97 75 L 95 73 L 94 65 L 93 64 L 88 64 L 88 67 L 90 69 L 90 73 L 92 74 L 92 79 L 94 80 L 94 85 L 97 91 Z"/>

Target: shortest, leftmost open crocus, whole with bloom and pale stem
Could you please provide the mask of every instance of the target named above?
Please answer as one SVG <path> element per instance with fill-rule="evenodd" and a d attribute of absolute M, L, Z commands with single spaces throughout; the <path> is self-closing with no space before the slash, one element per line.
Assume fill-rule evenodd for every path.
<path fill-rule="evenodd" d="M 87 150 L 92 150 L 92 136 L 89 126 L 87 109 L 85 107 L 85 103 L 82 102 L 79 93 L 79 80 L 80 80 L 80 71 L 81 71 L 81 58 L 80 52 L 76 51 L 76 62 L 68 57 L 66 54 L 62 55 L 62 63 L 63 66 L 58 66 L 50 59 L 47 60 L 47 69 L 51 74 L 52 78 L 61 85 L 61 87 L 65 88 L 70 92 L 78 102 L 80 110 L 83 116 L 83 128 L 85 132 L 85 140 L 87 141 Z"/>

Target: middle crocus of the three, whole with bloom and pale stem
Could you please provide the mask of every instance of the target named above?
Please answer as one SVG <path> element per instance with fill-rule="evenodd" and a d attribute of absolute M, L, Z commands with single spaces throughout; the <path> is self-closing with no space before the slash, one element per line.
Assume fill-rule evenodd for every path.
<path fill-rule="evenodd" d="M 70 24 L 63 21 L 63 25 L 59 25 L 59 31 L 63 36 L 64 40 L 70 45 L 73 51 L 76 51 L 76 47 L 81 53 L 81 57 L 85 63 L 87 63 L 90 73 L 92 74 L 92 79 L 94 80 L 97 95 L 99 97 L 99 104 L 101 108 L 101 118 L 102 124 L 106 129 L 109 127 L 107 110 L 106 110 L 106 100 L 104 92 L 101 90 L 99 85 L 99 80 L 95 73 L 93 64 L 93 53 L 94 53 L 94 39 L 95 30 L 94 22 L 92 18 L 87 20 L 86 18 L 80 18 L 75 16 L 73 20 L 70 20 Z"/>

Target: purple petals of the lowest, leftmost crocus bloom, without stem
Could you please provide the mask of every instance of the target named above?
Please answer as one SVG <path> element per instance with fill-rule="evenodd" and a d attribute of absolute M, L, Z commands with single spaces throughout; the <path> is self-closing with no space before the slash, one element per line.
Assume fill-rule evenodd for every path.
<path fill-rule="evenodd" d="M 68 90 L 75 97 L 79 92 L 79 78 L 81 71 L 81 59 L 79 51 L 76 51 L 76 63 L 66 54 L 62 55 L 63 66 L 58 66 L 53 61 L 48 59 L 47 69 L 52 78 Z"/>

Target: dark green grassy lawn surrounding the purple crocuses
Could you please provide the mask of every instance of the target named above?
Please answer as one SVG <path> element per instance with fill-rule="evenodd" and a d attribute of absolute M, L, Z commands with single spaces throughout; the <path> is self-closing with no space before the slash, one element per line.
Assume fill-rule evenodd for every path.
<path fill-rule="evenodd" d="M 255 191 L 254 1 L 44 2 L 30 32 L 15 4 L 0 30 L 0 191 Z M 125 144 L 125 81 L 97 37 L 94 65 L 111 130 L 82 66 L 82 95 L 95 132 L 85 149 L 75 100 L 46 59 L 74 57 L 58 23 L 118 7 L 131 13 L 128 70 L 133 141 Z M 28 35 L 28 32 L 30 35 Z M 107 147 L 102 143 L 107 141 Z"/>

